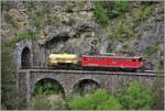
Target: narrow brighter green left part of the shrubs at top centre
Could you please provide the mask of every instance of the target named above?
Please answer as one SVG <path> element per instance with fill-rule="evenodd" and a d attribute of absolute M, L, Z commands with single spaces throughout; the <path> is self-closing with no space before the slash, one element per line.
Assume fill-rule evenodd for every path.
<path fill-rule="evenodd" d="M 98 23 L 101 25 L 107 25 L 108 24 L 108 16 L 107 16 L 107 10 L 103 9 L 103 7 L 100 4 L 100 2 L 96 2 L 95 5 L 95 18 Z"/>

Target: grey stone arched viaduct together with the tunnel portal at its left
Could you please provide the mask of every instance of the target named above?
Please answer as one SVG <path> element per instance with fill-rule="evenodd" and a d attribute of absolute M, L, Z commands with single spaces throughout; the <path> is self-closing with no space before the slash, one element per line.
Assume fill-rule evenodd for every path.
<path fill-rule="evenodd" d="M 34 49 L 35 46 L 33 46 L 31 41 L 23 41 L 16 44 L 13 53 L 18 67 L 18 90 L 28 102 L 34 92 L 36 84 L 44 79 L 56 81 L 64 89 L 65 96 L 86 85 L 106 88 L 109 92 L 118 92 L 132 80 L 138 80 L 144 82 L 147 87 L 153 87 L 156 78 L 164 79 L 164 76 L 156 76 L 152 73 L 26 69 L 35 65 L 35 59 L 43 58 L 35 54 Z M 40 52 L 40 49 L 36 51 Z M 38 56 L 38 58 L 34 57 L 34 55 Z"/>

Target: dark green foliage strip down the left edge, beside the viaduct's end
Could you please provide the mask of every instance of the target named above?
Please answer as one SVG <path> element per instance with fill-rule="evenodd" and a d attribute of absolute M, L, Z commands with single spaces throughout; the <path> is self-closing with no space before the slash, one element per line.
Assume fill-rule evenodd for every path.
<path fill-rule="evenodd" d="M 1 103 L 7 110 L 24 109 L 23 99 L 16 91 L 16 67 L 12 60 L 11 47 L 1 45 Z"/>

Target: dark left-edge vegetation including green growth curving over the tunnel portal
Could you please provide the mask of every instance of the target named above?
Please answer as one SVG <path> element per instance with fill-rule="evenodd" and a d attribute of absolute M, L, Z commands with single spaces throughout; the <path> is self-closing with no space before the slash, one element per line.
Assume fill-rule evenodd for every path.
<path fill-rule="evenodd" d="M 2 40 L 1 44 L 1 102 L 7 110 L 24 109 L 25 102 L 16 91 L 16 67 L 11 55 L 14 45 L 23 40 L 34 38 L 35 33 L 22 32 L 16 37 Z"/>

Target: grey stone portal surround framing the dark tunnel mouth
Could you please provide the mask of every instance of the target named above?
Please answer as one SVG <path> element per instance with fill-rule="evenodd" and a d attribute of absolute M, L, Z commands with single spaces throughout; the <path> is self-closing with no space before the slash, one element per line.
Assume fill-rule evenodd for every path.
<path fill-rule="evenodd" d="M 33 65 L 33 52 L 32 52 L 32 41 L 22 41 L 16 43 L 14 52 L 13 52 L 13 59 L 16 64 L 16 68 L 22 68 L 22 53 L 30 52 L 30 64 Z"/>

